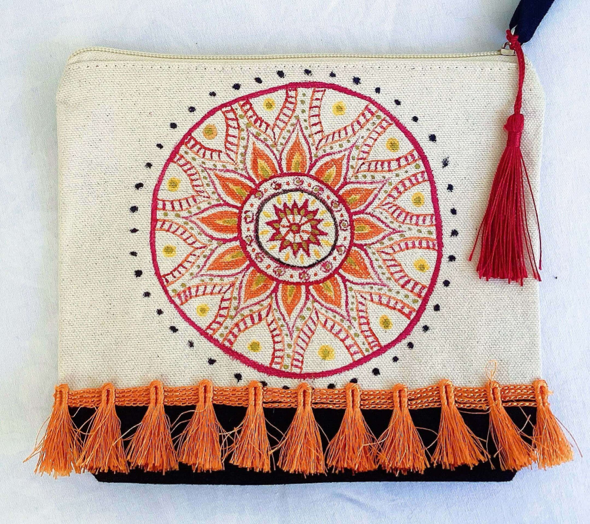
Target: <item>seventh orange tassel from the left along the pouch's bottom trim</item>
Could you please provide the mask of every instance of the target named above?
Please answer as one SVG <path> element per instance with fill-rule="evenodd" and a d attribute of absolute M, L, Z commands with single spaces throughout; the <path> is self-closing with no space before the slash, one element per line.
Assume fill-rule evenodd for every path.
<path fill-rule="evenodd" d="M 335 472 L 345 469 L 351 469 L 353 472 L 365 472 L 377 468 L 375 435 L 360 411 L 358 384 L 346 384 L 344 417 L 326 451 L 326 463 Z"/>

